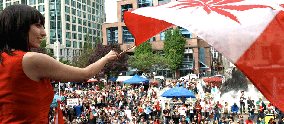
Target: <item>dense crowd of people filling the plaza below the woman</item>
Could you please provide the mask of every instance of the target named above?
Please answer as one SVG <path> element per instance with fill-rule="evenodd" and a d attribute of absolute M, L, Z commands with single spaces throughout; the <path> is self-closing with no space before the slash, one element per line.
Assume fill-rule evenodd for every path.
<path fill-rule="evenodd" d="M 170 80 L 162 83 L 158 88 L 152 85 L 145 90 L 142 85 L 130 85 L 128 88 L 112 84 L 109 88 L 99 89 L 98 85 L 89 83 L 82 87 L 75 84 L 72 86 L 62 86 L 64 92 L 61 95 L 67 98 L 78 98 L 78 106 L 66 106 L 66 102 L 60 105 L 66 123 L 77 122 L 78 124 L 160 124 L 160 119 L 164 118 L 164 124 L 207 124 L 213 120 L 214 123 L 224 124 L 234 123 L 234 115 L 237 115 L 238 122 L 242 121 L 242 113 L 245 113 L 244 102 L 252 109 L 249 111 L 250 117 L 248 121 L 254 120 L 254 111 L 258 111 L 258 117 L 264 119 L 264 102 L 260 99 L 254 104 L 251 97 L 246 97 L 244 92 L 240 95 L 240 112 L 237 103 L 231 107 L 227 102 L 222 106 L 219 101 L 205 96 L 214 93 L 212 88 L 214 85 L 188 80 Z M 160 108 L 157 92 L 162 88 L 168 90 L 173 87 L 184 87 L 198 95 L 195 102 L 187 102 L 187 98 L 176 96 L 171 102 L 182 102 L 181 106 L 169 106 L 168 103 Z M 81 94 L 76 93 L 77 90 L 82 91 Z M 59 95 L 56 91 L 55 95 Z M 256 107 L 257 106 L 257 107 Z M 170 109 L 172 108 L 172 109 Z M 223 108 L 223 109 L 222 109 Z M 55 107 L 50 109 L 50 122 L 53 122 Z M 273 113 L 275 119 L 281 118 L 282 113 L 272 104 L 268 105 L 269 113 Z M 222 115 L 221 115 L 222 114 Z M 284 114 L 283 114 L 284 115 Z M 219 121 L 220 116 L 223 116 Z M 227 116 L 227 117 L 226 117 Z M 200 120 L 198 121 L 198 118 Z M 224 119 L 224 121 L 223 121 Z M 273 119 L 274 120 L 274 119 Z M 230 124 L 231 124 L 230 123 Z M 255 122 L 253 122 L 255 123 Z"/>

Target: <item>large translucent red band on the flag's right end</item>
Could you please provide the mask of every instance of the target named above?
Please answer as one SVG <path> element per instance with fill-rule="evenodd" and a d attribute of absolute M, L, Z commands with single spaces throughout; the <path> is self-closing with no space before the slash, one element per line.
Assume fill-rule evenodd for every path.
<path fill-rule="evenodd" d="M 284 22 L 279 20 L 283 14 L 284 11 L 280 11 L 276 15 L 236 63 L 264 97 L 282 111 L 284 111 Z"/>

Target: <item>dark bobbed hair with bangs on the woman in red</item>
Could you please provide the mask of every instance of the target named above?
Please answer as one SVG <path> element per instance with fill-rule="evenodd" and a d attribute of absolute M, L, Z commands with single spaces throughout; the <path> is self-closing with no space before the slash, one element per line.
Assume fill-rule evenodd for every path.
<path fill-rule="evenodd" d="M 14 55 L 12 49 L 30 51 L 29 30 L 39 20 L 44 26 L 44 17 L 34 7 L 23 4 L 6 7 L 0 14 L 0 54 Z"/>

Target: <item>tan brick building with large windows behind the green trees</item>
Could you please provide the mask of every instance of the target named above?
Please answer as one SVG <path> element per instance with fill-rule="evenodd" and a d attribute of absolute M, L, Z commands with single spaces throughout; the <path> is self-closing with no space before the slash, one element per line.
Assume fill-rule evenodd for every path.
<path fill-rule="evenodd" d="M 115 23 L 104 23 L 103 24 L 103 44 L 118 43 L 121 45 L 122 50 L 130 48 L 135 43 L 135 39 L 130 31 L 125 26 L 123 21 L 123 12 L 147 6 L 160 5 L 175 0 L 121 0 L 117 1 L 117 22 Z M 185 14 L 186 16 L 186 14 Z M 195 73 L 200 71 L 208 71 L 211 68 L 211 56 L 210 56 L 210 45 L 204 40 L 198 38 L 195 34 L 188 30 L 177 26 L 176 28 L 182 31 L 182 35 L 186 38 L 185 51 L 183 62 L 179 69 L 176 70 L 176 77 L 185 76 L 187 73 L 193 72 L 192 68 L 197 68 Z M 150 39 L 152 43 L 152 49 L 154 52 L 163 50 L 163 39 L 165 32 L 157 34 Z M 133 51 L 127 51 L 128 55 L 133 55 Z M 163 52 L 161 53 L 163 55 Z M 166 78 L 170 78 L 172 73 L 169 70 L 160 70 L 161 75 Z M 136 70 L 124 72 L 124 75 L 134 75 L 137 73 Z M 209 73 L 210 74 L 210 73 Z"/>

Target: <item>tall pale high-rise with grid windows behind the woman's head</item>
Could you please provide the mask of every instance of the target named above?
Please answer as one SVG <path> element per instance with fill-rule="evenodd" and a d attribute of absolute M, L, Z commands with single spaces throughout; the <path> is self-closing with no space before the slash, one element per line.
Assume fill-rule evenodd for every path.
<path fill-rule="evenodd" d="M 93 45 L 97 36 L 103 40 L 105 0 L 0 0 L 0 11 L 12 4 L 30 5 L 43 14 L 46 48 L 59 59 L 72 61 L 82 51 L 87 34 Z"/>

